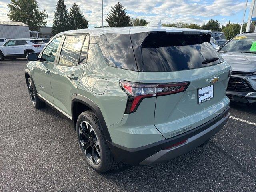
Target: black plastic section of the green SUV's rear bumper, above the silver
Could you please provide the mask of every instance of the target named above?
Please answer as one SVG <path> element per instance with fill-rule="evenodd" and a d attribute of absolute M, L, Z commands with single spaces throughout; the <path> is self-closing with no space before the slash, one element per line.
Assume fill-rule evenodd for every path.
<path fill-rule="evenodd" d="M 214 119 L 206 122 L 205 124 L 202 124 L 201 126 L 199 126 L 197 128 L 194 128 L 186 133 L 180 134 L 180 135 L 175 136 L 170 139 L 162 140 L 162 141 L 159 141 L 159 142 L 156 142 L 153 144 L 149 144 L 146 146 L 138 147 L 138 148 L 127 148 L 127 147 L 115 144 L 113 142 L 108 142 L 108 146 L 110 148 L 110 151 L 116 158 L 116 160 L 126 163 L 126 164 L 130 164 L 130 165 L 138 165 L 138 164 L 140 164 L 140 162 L 142 162 L 146 158 L 152 156 L 153 154 L 156 154 L 160 150 L 168 148 L 169 146 L 176 144 L 178 142 L 192 138 L 193 136 L 200 134 L 204 130 L 208 129 L 209 127 L 213 126 L 214 124 L 217 124 L 217 122 L 219 122 L 220 120 L 223 120 L 223 118 L 225 118 L 222 123 L 216 125 L 216 127 L 214 128 L 214 134 L 216 134 L 228 120 L 229 109 L 230 109 L 230 107 L 228 107 L 220 115 L 218 115 Z M 202 143 L 198 144 L 198 146 L 200 146 L 204 142 L 205 142 L 205 140 L 202 140 Z"/>

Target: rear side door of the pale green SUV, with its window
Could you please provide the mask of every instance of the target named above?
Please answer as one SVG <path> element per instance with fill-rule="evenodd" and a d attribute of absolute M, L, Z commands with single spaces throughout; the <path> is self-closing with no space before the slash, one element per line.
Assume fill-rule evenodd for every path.
<path fill-rule="evenodd" d="M 77 34 L 65 37 L 57 64 L 51 72 L 54 106 L 72 119 L 71 99 L 77 93 L 87 61 L 89 35 Z M 81 55 L 80 55 L 81 52 Z"/>

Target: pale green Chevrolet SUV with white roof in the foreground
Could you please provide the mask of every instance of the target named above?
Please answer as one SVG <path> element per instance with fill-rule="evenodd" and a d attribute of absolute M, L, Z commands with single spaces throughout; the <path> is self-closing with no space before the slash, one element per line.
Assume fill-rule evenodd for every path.
<path fill-rule="evenodd" d="M 172 160 L 206 144 L 229 116 L 231 68 L 210 30 L 72 30 L 27 58 L 33 106 L 48 104 L 74 125 L 97 172 Z"/>

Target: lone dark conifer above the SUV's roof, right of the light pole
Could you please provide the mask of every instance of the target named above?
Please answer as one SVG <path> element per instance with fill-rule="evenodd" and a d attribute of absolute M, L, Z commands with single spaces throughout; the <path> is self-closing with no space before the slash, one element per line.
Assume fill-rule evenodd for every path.
<path fill-rule="evenodd" d="M 120 2 L 117 2 L 114 7 L 111 7 L 106 18 L 108 25 L 110 27 L 132 26 L 132 20 L 125 10 L 126 8 L 124 8 Z"/>

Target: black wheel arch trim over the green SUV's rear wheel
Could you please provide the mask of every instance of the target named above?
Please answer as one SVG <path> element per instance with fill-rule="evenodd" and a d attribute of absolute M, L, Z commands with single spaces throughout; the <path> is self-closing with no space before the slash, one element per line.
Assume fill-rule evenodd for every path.
<path fill-rule="evenodd" d="M 75 97 L 74 97 L 74 95 L 75 95 Z M 98 105 L 95 104 L 92 100 L 88 99 L 85 96 L 82 96 L 80 94 L 74 94 L 74 95 L 72 96 L 72 102 L 71 102 L 72 118 L 73 118 L 73 120 L 74 120 L 74 114 L 73 114 L 74 103 L 75 102 L 80 102 L 80 103 L 84 104 L 85 106 L 87 106 L 90 109 L 92 109 L 92 111 L 94 112 L 94 114 L 98 118 L 98 120 L 100 122 L 100 126 L 103 129 L 103 133 L 104 133 L 104 136 L 105 136 L 106 140 L 108 142 L 112 142 L 110 134 L 108 132 L 108 127 L 106 125 L 106 122 L 104 120 L 104 117 L 103 117 L 102 112 L 100 111 L 100 108 L 98 107 Z M 76 122 L 74 122 L 74 125 L 76 125 Z M 76 126 L 74 126 L 74 128 L 76 128 Z"/>

